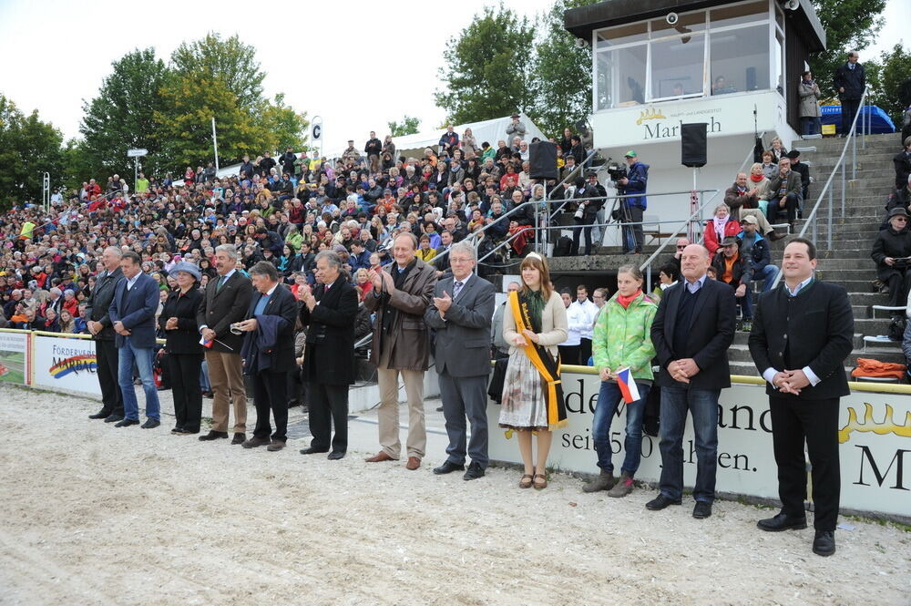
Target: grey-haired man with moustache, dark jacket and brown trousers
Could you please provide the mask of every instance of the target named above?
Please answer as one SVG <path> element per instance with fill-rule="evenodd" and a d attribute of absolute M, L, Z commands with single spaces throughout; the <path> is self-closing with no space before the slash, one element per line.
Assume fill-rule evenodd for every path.
<path fill-rule="evenodd" d="M 250 279 L 238 272 L 237 249 L 221 244 L 215 249 L 215 271 L 218 279 L 206 285 L 206 294 L 196 314 L 200 334 L 206 349 L 206 365 L 212 385 L 212 428 L 203 442 L 228 437 L 229 405 L 234 406 L 234 438 L 231 444 L 243 444 L 247 439 L 247 391 L 243 385 L 241 345 L 243 338 L 233 334 L 231 324 L 247 316 L 253 293 Z"/>

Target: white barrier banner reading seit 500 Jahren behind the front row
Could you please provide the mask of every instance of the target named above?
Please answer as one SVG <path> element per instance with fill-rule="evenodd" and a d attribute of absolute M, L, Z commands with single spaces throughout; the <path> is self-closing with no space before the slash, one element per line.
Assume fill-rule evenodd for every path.
<path fill-rule="evenodd" d="M 571 373 L 562 378 L 569 426 L 555 432 L 548 463 L 565 471 L 597 474 L 591 421 L 598 404 L 599 378 Z M 842 398 L 841 407 L 842 507 L 911 515 L 911 396 L 856 392 Z M 499 413 L 500 406 L 489 403 L 490 458 L 518 463 L 517 437 L 499 427 Z M 620 402 L 610 425 L 615 474 L 623 462 L 625 427 L 626 405 Z M 661 473 L 659 439 L 643 435 L 641 453 L 636 477 L 657 482 Z M 696 446 L 689 418 L 682 456 L 683 483 L 691 488 L 696 479 Z M 719 492 L 778 497 L 772 422 L 762 385 L 733 385 L 722 390 L 717 461 Z"/>

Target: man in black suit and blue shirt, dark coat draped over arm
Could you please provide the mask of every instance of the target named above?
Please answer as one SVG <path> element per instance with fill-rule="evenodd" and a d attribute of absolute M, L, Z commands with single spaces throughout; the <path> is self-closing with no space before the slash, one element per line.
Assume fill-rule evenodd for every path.
<path fill-rule="evenodd" d="M 247 319 L 234 324 L 235 330 L 246 333 L 241 349 L 243 373 L 251 375 L 253 401 L 256 406 L 256 426 L 253 437 L 244 448 L 268 445 L 274 452 L 285 447 L 288 440 L 288 372 L 294 370 L 294 324 L 297 321 L 297 302 L 294 295 L 279 283 L 279 272 L 267 261 L 250 268 L 250 279 L 257 293 L 251 297 Z M 269 412 L 275 419 L 271 434 Z"/>

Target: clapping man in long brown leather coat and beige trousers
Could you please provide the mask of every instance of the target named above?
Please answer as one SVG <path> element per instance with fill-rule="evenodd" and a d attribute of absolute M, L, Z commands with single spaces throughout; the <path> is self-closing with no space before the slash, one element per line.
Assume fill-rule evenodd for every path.
<path fill-rule="evenodd" d="M 424 373 L 430 358 L 430 334 L 424 313 L 434 296 L 436 272 L 415 257 L 417 238 L 400 233 L 393 241 L 393 257 L 380 271 L 371 270 L 374 283 L 364 305 L 376 312 L 370 361 L 376 365 L 381 404 L 378 411 L 382 449 L 369 463 L 397 459 L 399 441 L 398 377 L 408 397 L 408 469 L 421 467 L 427 445 L 424 423 Z"/>

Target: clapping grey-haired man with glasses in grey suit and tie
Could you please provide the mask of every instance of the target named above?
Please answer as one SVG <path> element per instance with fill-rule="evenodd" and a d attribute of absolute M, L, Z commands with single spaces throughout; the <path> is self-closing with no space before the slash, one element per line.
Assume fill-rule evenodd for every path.
<path fill-rule="evenodd" d="M 424 314 L 436 330 L 436 373 L 440 380 L 449 446 L 437 475 L 465 469 L 466 416 L 471 423 L 466 480 L 481 478 L 487 467 L 487 376 L 490 375 L 490 323 L 494 286 L 472 273 L 475 248 L 466 241 L 449 251 L 452 276 L 436 283 L 434 299 Z"/>

